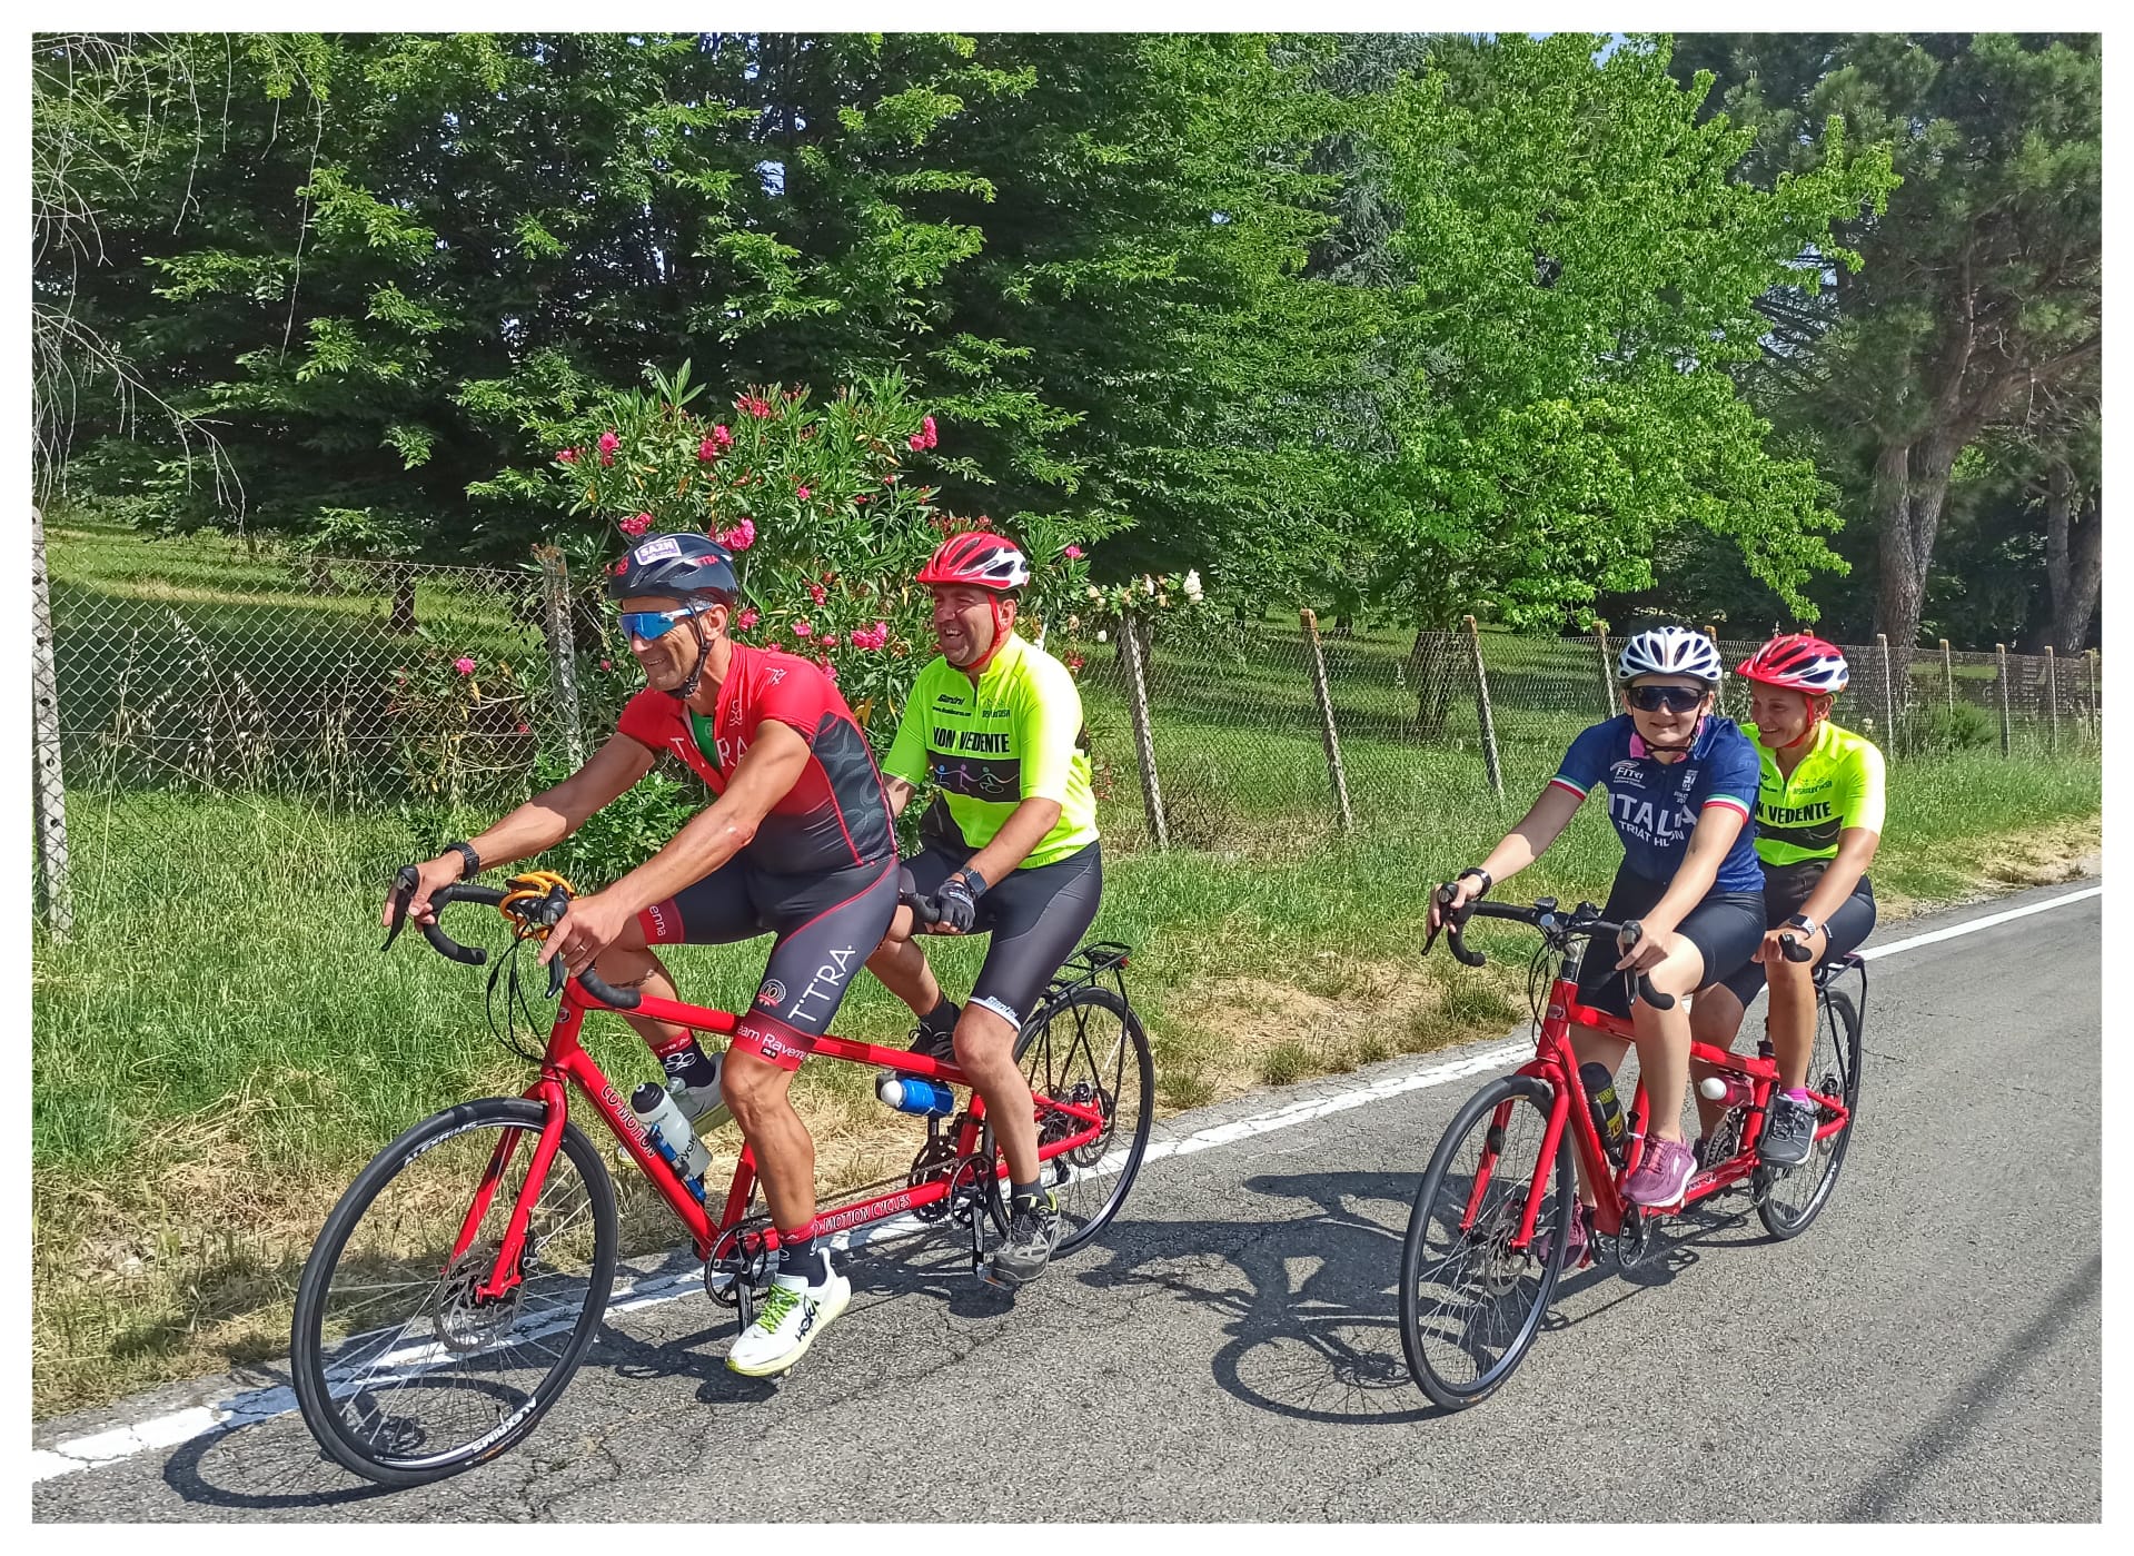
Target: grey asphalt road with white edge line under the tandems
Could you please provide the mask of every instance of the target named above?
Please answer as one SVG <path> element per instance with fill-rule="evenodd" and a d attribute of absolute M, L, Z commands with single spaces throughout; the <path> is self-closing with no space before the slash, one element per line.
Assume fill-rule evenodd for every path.
<path fill-rule="evenodd" d="M 1778 1244 L 1733 1197 L 1628 1274 L 1568 1276 L 1519 1372 L 1460 1415 L 1408 1381 L 1396 1276 L 1421 1168 L 1481 1074 L 1150 1161 L 1099 1247 L 1014 1302 L 947 1244 L 875 1244 L 783 1383 L 730 1375 L 730 1315 L 691 1293 L 610 1315 L 538 1432 L 440 1486 L 380 1492 L 277 1415 L 41 1479 L 32 1513 L 2098 1520 L 2100 963 L 2100 899 L 1876 960 L 1861 1123 L 1820 1221 Z M 1455 1059 L 1257 1093 L 1159 1138 Z"/>

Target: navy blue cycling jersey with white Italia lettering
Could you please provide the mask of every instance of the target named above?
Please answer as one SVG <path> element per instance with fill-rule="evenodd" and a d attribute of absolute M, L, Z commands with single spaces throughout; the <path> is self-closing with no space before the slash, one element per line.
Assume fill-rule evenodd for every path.
<path fill-rule="evenodd" d="M 1562 766 L 1549 779 L 1579 798 L 1596 783 L 1607 788 L 1609 820 L 1622 839 L 1624 864 L 1645 879 L 1671 882 L 1690 852 L 1690 832 L 1707 805 L 1724 805 L 1743 817 L 1756 813 L 1763 766 L 1756 747 L 1733 719 L 1707 717 L 1690 753 L 1660 762 L 1645 751 L 1628 713 L 1596 724 L 1571 743 Z M 1718 892 L 1761 892 L 1756 826 L 1746 820 L 1741 835 L 1720 860 Z"/>

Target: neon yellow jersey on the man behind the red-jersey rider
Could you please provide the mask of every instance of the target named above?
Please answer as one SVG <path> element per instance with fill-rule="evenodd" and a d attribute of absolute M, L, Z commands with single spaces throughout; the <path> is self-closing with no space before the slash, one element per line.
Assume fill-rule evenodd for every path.
<path fill-rule="evenodd" d="M 973 852 L 1022 800 L 1058 800 L 1061 820 L 1020 869 L 1052 864 L 1097 841 L 1082 694 L 1065 664 L 1014 632 L 977 687 L 947 660 L 920 670 L 881 771 L 905 783 L 937 783 Z"/>

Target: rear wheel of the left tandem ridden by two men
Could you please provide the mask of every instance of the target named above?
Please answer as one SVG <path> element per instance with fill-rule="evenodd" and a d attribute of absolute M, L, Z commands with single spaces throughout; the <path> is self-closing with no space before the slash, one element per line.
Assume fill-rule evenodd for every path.
<path fill-rule="evenodd" d="M 1148 1033 L 1125 999 L 1112 988 L 1076 984 L 1044 1005 L 1016 1037 L 1016 1063 L 1031 1091 L 1078 1108 L 1095 1106 L 1103 1118 L 1097 1136 L 1046 1161 L 1044 1182 L 1061 1206 L 1061 1240 L 1054 1255 L 1071 1253 L 1103 1232 L 1118 1214 L 1142 1170 L 1148 1127 L 1157 1112 L 1157 1065 L 1148 1054 Z M 1044 1110 L 1037 1144 L 1069 1140 L 1086 1129 L 1073 1114 Z M 986 1125 L 986 1155 L 992 1155 L 992 1125 Z M 990 1195 L 994 1223 L 1001 1193 Z"/>

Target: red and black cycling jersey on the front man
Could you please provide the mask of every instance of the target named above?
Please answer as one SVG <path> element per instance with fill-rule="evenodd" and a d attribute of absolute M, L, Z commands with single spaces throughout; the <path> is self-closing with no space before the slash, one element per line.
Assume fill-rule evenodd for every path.
<path fill-rule="evenodd" d="M 736 642 L 711 717 L 644 687 L 623 706 L 617 730 L 655 753 L 672 751 L 713 794 L 723 794 L 764 719 L 798 730 L 809 743 L 809 762 L 755 828 L 743 858 L 773 875 L 813 875 L 890 858 L 896 830 L 875 753 L 837 685 L 807 660 Z"/>

